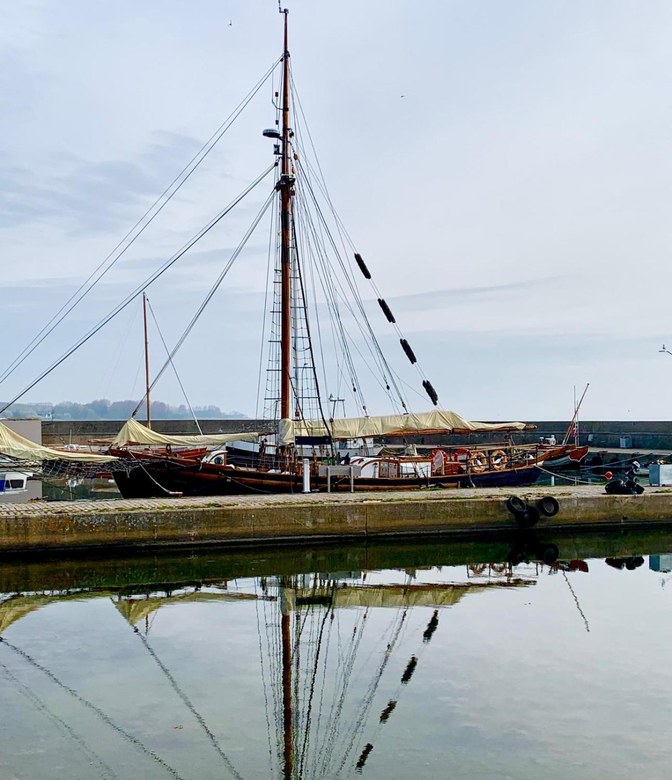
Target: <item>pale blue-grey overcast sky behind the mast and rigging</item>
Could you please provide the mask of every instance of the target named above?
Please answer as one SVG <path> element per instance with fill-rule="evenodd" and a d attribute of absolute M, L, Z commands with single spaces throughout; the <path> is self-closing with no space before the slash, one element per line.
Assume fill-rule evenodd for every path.
<path fill-rule="evenodd" d="M 3 368 L 280 55 L 281 16 L 274 0 L 0 8 Z M 290 11 L 332 200 L 441 406 L 566 419 L 573 386 L 590 382 L 585 419 L 669 419 L 672 356 L 658 349 L 672 345 L 672 5 L 292 0 Z M 269 86 L 0 397 L 271 163 L 260 131 L 273 120 Z M 169 343 L 269 187 L 257 190 L 150 289 Z M 267 240 L 260 227 L 179 354 L 194 404 L 255 413 Z M 417 386 L 375 301 L 371 317 Z M 153 348 L 157 367 L 155 335 Z M 141 357 L 132 305 L 24 400 L 138 397 Z M 155 397 L 182 402 L 171 378 Z M 387 413 L 377 401 L 374 389 L 370 412 Z"/>

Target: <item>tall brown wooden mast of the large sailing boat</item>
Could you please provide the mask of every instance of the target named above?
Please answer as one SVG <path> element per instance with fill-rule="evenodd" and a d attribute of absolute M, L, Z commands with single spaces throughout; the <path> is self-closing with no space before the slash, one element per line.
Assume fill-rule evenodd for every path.
<path fill-rule="evenodd" d="M 292 197 L 294 176 L 289 162 L 289 51 L 287 37 L 288 10 L 285 14 L 285 53 L 282 58 L 282 168 L 278 181 L 281 224 L 281 336 L 280 336 L 280 417 L 290 417 L 291 348 L 292 348 Z"/>

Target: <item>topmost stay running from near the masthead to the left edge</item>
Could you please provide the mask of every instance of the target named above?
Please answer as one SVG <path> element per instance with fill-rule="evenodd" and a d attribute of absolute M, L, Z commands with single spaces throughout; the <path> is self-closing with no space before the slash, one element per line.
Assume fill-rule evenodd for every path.
<path fill-rule="evenodd" d="M 172 197 L 177 193 L 182 187 L 184 183 L 186 183 L 187 179 L 193 174 L 193 172 L 198 168 L 201 162 L 207 157 L 208 154 L 210 154 L 210 151 L 212 151 L 215 147 L 215 145 L 218 143 L 218 141 L 221 139 L 221 137 L 226 133 L 226 131 L 229 129 L 229 127 L 232 126 L 233 122 L 235 122 L 236 119 L 238 119 L 239 115 L 242 113 L 244 108 L 249 104 L 249 101 L 252 100 L 252 98 L 256 95 L 256 93 L 260 90 L 263 83 L 267 80 L 268 76 L 271 75 L 271 73 L 274 72 L 274 69 L 278 66 L 278 63 L 281 61 L 281 58 L 278 58 L 276 62 L 274 62 L 273 66 L 271 66 L 270 69 L 267 70 L 267 73 L 261 78 L 260 81 L 256 83 L 256 86 L 253 87 L 252 90 L 242 99 L 242 101 L 239 103 L 239 105 L 233 110 L 233 112 L 228 115 L 228 118 L 225 119 L 225 121 L 218 127 L 217 130 L 213 133 L 212 136 L 210 136 L 210 139 L 206 141 L 205 144 L 203 144 L 203 147 L 200 148 L 199 151 L 194 154 L 193 158 L 189 160 L 189 162 L 186 164 L 184 168 L 182 168 L 182 171 L 179 172 L 179 174 L 175 177 L 175 179 L 172 180 L 172 182 L 166 187 L 166 189 L 157 197 L 157 200 L 154 201 L 154 204 L 152 204 L 147 211 L 140 217 L 140 219 L 136 222 L 135 225 L 129 230 L 129 232 L 126 233 L 126 236 L 124 236 L 121 241 L 115 246 L 113 250 L 111 250 L 110 254 L 108 254 L 107 257 L 104 258 L 104 260 L 95 268 L 94 271 L 87 277 L 87 279 L 80 285 L 79 289 L 76 290 L 75 293 L 73 293 L 72 296 L 70 296 L 69 300 L 67 300 L 63 306 L 56 312 L 56 314 L 51 317 L 51 320 L 48 321 L 46 325 L 44 325 L 44 328 L 41 329 L 41 331 L 34 336 L 34 339 L 23 349 L 21 353 L 19 353 L 18 356 L 14 360 L 12 360 L 12 363 L 9 364 L 9 367 L 3 371 L 2 375 L 0 375 L 0 385 L 2 385 L 2 382 L 5 381 L 5 379 L 9 378 L 11 374 L 16 371 L 16 369 L 23 363 L 24 360 L 27 359 L 28 356 L 30 356 L 31 353 L 34 352 L 35 349 L 37 349 L 38 346 L 44 341 L 44 339 L 47 338 L 48 335 L 51 334 L 51 332 L 54 331 L 55 328 L 58 327 L 58 324 L 60 324 L 65 317 L 68 316 L 68 314 L 76 307 L 78 303 L 80 303 L 81 300 L 85 296 L 87 296 L 88 293 L 90 293 L 90 290 L 94 288 L 95 285 L 97 285 L 98 282 L 101 281 L 101 278 L 104 277 L 105 274 L 114 266 L 114 264 L 118 261 L 120 257 L 126 252 L 126 250 L 129 249 L 130 246 L 133 245 L 133 243 L 138 239 L 142 233 L 149 227 L 149 225 L 154 222 L 154 218 L 156 218 L 161 211 L 164 209 L 164 207 L 169 203 L 169 201 L 172 199 Z M 205 151 L 203 151 L 205 150 Z M 201 154 L 203 153 L 203 154 Z M 138 225 L 143 222 L 144 218 L 147 217 L 148 214 L 156 207 L 157 203 L 161 201 L 161 198 L 164 197 L 166 193 L 168 193 L 169 190 L 171 190 L 172 186 L 175 185 L 176 182 L 179 181 L 179 179 L 184 175 L 184 173 L 189 168 L 189 165 L 192 165 L 193 161 L 196 160 L 200 156 L 200 159 L 196 161 L 196 164 L 193 165 L 191 170 L 184 176 L 181 182 L 179 182 L 178 186 L 175 187 L 175 190 L 172 191 L 168 195 L 168 197 L 164 200 L 164 202 L 161 204 L 160 207 L 158 207 L 157 211 L 154 212 L 154 214 L 150 217 L 150 219 L 143 225 L 143 227 L 136 233 L 135 236 L 129 241 L 129 243 L 124 246 L 124 248 L 116 255 L 116 257 L 111 261 L 111 263 L 108 265 L 107 268 L 104 268 L 104 270 L 101 272 L 101 274 L 94 280 L 94 282 L 87 288 L 86 285 L 90 282 L 92 278 L 97 274 L 98 271 L 100 271 L 101 268 L 103 268 L 104 264 L 107 263 L 109 258 L 112 256 L 112 254 L 115 253 L 116 250 L 118 250 L 119 246 L 122 246 L 122 244 L 126 241 L 126 239 L 133 233 L 133 231 L 137 228 Z M 82 293 L 82 290 L 83 293 Z M 80 293 L 82 293 L 80 295 Z M 79 297 L 77 297 L 79 296 Z M 76 298 L 76 300 L 74 300 Z M 74 303 L 73 303 L 74 300 Z M 72 306 L 70 306 L 70 303 L 72 303 Z M 65 313 L 63 313 L 65 310 Z M 62 316 L 60 316 L 62 315 Z"/>

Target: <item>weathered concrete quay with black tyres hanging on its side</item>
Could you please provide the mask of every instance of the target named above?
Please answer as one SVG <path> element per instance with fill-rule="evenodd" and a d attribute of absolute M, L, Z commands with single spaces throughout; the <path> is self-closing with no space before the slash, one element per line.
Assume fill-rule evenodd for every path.
<path fill-rule="evenodd" d="M 561 510 L 539 530 L 641 527 L 672 519 L 672 491 L 605 495 L 603 488 L 517 491 L 555 495 Z M 275 544 L 511 530 L 510 491 L 413 491 L 4 505 L 0 552 L 194 544 Z"/>

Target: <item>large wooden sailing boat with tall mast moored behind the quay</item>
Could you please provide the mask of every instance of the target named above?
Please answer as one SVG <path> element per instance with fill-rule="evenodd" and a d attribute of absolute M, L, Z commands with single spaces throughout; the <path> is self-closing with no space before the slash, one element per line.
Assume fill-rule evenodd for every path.
<path fill-rule="evenodd" d="M 530 430 L 533 426 L 520 422 L 470 422 L 454 412 L 440 410 L 437 408 L 437 392 L 424 377 L 423 388 L 435 409 L 426 413 L 412 413 L 373 334 L 356 283 L 347 277 L 347 268 L 340 255 L 339 262 L 347 277 L 347 285 L 339 290 L 333 279 L 327 278 L 323 282 L 330 316 L 332 321 L 334 318 L 336 320 L 335 330 L 345 340 L 345 328 L 338 307 L 339 300 L 343 300 L 343 291 L 347 290 L 355 298 L 355 307 L 350 309 L 351 313 L 358 314 L 364 321 L 360 331 L 370 338 L 373 363 L 382 375 L 381 386 L 391 397 L 397 392 L 398 399 L 394 399 L 397 411 L 388 415 L 370 416 L 366 404 L 361 401 L 359 383 L 355 381 L 353 370 L 352 391 L 364 416 L 335 418 L 333 414 L 329 416 L 328 412 L 325 413 L 317 381 L 302 266 L 306 262 L 306 253 L 309 257 L 317 258 L 314 263 L 316 266 L 324 260 L 319 247 L 314 254 L 311 254 L 313 250 L 310 246 L 306 250 L 309 239 L 318 243 L 320 234 L 324 235 L 326 231 L 332 248 L 335 249 L 336 244 L 328 233 L 326 223 L 320 222 L 319 229 L 316 229 L 307 212 L 297 206 L 301 194 L 314 198 L 315 193 L 311 180 L 307 178 L 308 168 L 301 165 L 301 148 L 295 139 L 295 129 L 290 124 L 290 105 L 294 103 L 288 51 L 288 11 L 285 9 L 281 13 L 284 16 L 284 49 L 279 61 L 282 69 L 281 90 L 275 93 L 279 98 L 279 105 L 276 105 L 278 119 L 276 128 L 263 131 L 265 137 L 276 142 L 274 154 L 277 158 L 274 166 L 277 172 L 276 184 L 269 200 L 275 200 L 278 206 L 276 235 L 279 250 L 276 269 L 278 294 L 273 307 L 274 313 L 278 314 L 274 334 L 277 338 L 271 339 L 272 343 L 278 344 L 278 365 L 269 370 L 277 381 L 277 403 L 272 419 L 266 431 L 249 434 L 167 436 L 151 431 L 149 426 L 145 427 L 132 418 L 122 427 L 109 451 L 110 455 L 124 461 L 125 466 L 128 466 L 129 461 L 136 466 L 133 469 L 113 470 L 119 490 L 126 498 L 140 498 L 532 484 L 539 476 L 539 463 L 551 457 L 563 456 L 571 452 L 573 447 L 516 446 L 509 437 L 505 444 L 478 448 L 441 448 L 429 456 L 409 453 L 398 457 L 362 457 L 345 464 L 338 463 L 335 449 L 337 441 L 479 431 L 511 434 Z M 321 186 L 319 182 L 317 186 Z M 327 204 L 331 207 L 328 194 Z M 342 225 L 335 212 L 334 218 L 340 232 Z M 302 250 L 301 257 L 299 249 Z M 418 368 L 416 355 L 398 330 L 394 314 L 380 296 L 361 254 L 355 252 L 354 259 L 363 277 L 373 285 L 387 321 L 394 325 L 401 336 L 400 344 L 405 356 Z M 317 304 L 315 308 L 317 312 Z M 352 360 L 347 346 L 343 348 L 342 354 L 343 365 L 351 368 Z M 245 465 L 239 460 L 228 459 L 226 445 L 232 441 L 260 442 L 251 463 Z M 213 447 L 219 449 L 213 452 L 210 449 Z"/>

